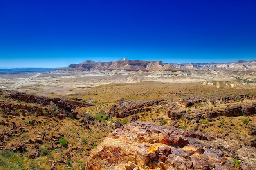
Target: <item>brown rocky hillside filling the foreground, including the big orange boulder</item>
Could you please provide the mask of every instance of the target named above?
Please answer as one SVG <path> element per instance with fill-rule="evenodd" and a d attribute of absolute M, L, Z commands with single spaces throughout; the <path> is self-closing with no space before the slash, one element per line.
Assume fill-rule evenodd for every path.
<path fill-rule="evenodd" d="M 250 170 L 256 166 L 255 90 L 202 96 L 193 93 L 198 86 L 186 87 L 186 92 L 175 86 L 174 93 L 167 87 L 162 92 L 150 87 L 157 96 L 166 93 L 153 97 L 153 89 L 140 85 L 141 95 L 148 98 L 135 99 L 137 86 L 129 84 L 128 91 L 110 87 L 133 97 L 112 95 L 106 85 L 102 89 L 110 92 L 108 102 L 102 101 L 106 92 L 100 87 L 65 98 L 0 90 L 0 169 Z"/>

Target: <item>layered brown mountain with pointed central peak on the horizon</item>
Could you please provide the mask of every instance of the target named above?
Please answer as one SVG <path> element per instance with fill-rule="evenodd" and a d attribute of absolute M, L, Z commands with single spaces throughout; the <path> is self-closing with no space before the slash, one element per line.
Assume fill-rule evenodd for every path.
<path fill-rule="evenodd" d="M 65 71 L 104 71 L 104 70 L 125 70 L 125 71 L 179 71 L 171 64 L 163 64 L 162 61 L 141 61 L 128 60 L 123 58 L 118 61 L 94 62 L 91 60 L 84 61 L 80 64 L 70 64 Z"/>

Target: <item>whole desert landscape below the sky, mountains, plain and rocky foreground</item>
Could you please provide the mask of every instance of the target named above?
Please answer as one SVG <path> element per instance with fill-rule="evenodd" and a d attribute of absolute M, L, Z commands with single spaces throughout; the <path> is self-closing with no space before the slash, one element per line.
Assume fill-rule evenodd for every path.
<path fill-rule="evenodd" d="M 0 169 L 256 167 L 256 60 L 0 74 Z"/>

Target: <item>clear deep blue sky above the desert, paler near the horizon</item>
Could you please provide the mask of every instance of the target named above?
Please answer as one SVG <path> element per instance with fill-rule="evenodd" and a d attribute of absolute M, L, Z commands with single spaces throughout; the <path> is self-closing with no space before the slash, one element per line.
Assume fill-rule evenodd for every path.
<path fill-rule="evenodd" d="M 0 68 L 256 59 L 256 0 L 1 0 Z"/>

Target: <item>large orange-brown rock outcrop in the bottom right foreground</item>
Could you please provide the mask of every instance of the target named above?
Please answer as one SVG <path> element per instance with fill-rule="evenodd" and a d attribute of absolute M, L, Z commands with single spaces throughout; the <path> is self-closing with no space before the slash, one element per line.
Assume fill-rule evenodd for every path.
<path fill-rule="evenodd" d="M 253 170 L 256 149 L 237 140 L 143 122 L 115 129 L 92 150 L 89 170 Z"/>

